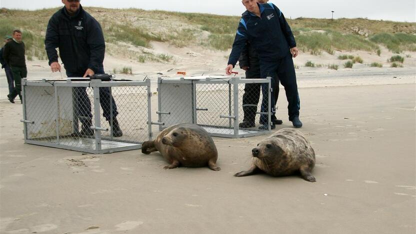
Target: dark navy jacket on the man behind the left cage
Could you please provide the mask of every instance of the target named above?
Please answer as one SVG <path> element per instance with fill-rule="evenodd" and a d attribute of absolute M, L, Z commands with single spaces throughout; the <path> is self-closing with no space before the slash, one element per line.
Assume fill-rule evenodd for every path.
<path fill-rule="evenodd" d="M 90 68 L 96 72 L 102 67 L 105 53 L 102 29 L 82 6 L 74 16 L 69 16 L 62 7 L 49 19 L 45 37 L 49 65 L 58 60 L 57 47 L 67 71 L 83 73 Z"/>

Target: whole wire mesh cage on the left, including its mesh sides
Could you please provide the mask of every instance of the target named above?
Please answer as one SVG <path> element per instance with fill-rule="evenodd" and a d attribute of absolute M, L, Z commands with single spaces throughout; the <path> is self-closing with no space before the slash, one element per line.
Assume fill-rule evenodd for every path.
<path fill-rule="evenodd" d="M 89 153 L 151 139 L 150 80 L 22 82 L 26 143 Z"/>

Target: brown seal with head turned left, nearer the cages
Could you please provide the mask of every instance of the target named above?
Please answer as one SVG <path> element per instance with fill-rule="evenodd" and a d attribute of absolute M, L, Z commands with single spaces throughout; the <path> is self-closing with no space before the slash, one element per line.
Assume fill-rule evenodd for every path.
<path fill-rule="evenodd" d="M 162 130 L 154 140 L 144 141 L 141 152 L 149 154 L 159 151 L 170 163 L 164 168 L 178 166 L 209 166 L 220 170 L 216 165 L 218 152 L 215 144 L 202 127 L 192 123 L 179 123 Z"/>

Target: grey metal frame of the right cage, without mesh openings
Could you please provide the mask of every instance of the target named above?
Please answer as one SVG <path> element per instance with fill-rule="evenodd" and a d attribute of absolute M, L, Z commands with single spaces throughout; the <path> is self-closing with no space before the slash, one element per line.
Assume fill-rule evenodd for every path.
<path fill-rule="evenodd" d="M 255 135 L 262 135 L 267 134 L 271 130 L 271 106 L 270 106 L 270 91 L 271 91 L 271 78 L 267 77 L 266 79 L 246 79 L 244 77 L 233 77 L 233 76 L 197 76 L 197 77 L 179 77 L 179 78 L 162 78 L 158 77 L 157 79 L 157 92 L 158 92 L 158 121 L 152 122 L 151 124 L 159 125 L 159 130 L 163 130 L 164 128 L 180 123 L 180 122 L 188 122 L 198 124 L 205 128 L 211 136 L 219 136 L 219 137 L 226 137 L 226 138 L 242 138 L 242 137 L 249 137 Z M 240 121 L 240 108 L 241 103 L 239 103 L 239 95 L 244 90 L 240 90 L 239 84 L 267 84 L 267 92 L 268 92 L 268 112 L 258 112 L 256 114 L 267 114 L 268 117 L 268 129 L 266 130 L 259 130 L 259 129 L 252 129 L 252 128 L 240 128 L 238 126 Z M 228 118 L 229 124 L 227 127 L 224 126 L 217 126 L 217 125 L 210 125 L 210 124 L 199 124 L 197 119 L 197 111 L 208 110 L 207 108 L 198 108 L 197 105 L 197 85 L 200 84 L 228 84 L 228 114 L 218 114 L 220 118 Z M 173 93 L 173 90 L 169 88 L 164 88 L 168 85 L 185 85 L 187 87 L 182 89 L 181 91 L 185 92 L 186 97 L 185 100 L 176 100 L 176 105 L 179 106 L 182 111 L 187 112 L 190 116 L 186 117 L 178 117 L 177 119 L 171 120 L 170 122 L 166 122 L 166 118 L 164 116 L 173 115 L 170 110 L 166 110 L 164 105 L 164 98 L 165 92 L 170 92 L 173 98 L 176 94 Z M 170 96 L 170 97 L 172 97 Z M 168 97 L 166 97 L 168 98 Z M 187 99 L 189 98 L 189 99 Z M 184 101 L 184 102 L 181 102 Z M 190 104 L 190 106 L 188 106 Z M 169 108 L 171 109 L 171 108 Z M 215 129 L 223 129 L 223 130 L 215 130 Z M 228 132 L 221 132 L 225 129 L 228 129 Z M 216 132 L 215 132 L 216 131 Z"/>

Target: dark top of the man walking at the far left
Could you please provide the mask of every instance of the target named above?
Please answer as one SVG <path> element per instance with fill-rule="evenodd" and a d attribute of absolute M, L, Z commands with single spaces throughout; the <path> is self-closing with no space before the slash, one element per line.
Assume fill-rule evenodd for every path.
<path fill-rule="evenodd" d="M 24 43 L 21 41 L 17 43 L 14 40 L 10 40 L 4 45 L 3 59 L 10 67 L 26 67 L 26 59 L 24 57 Z"/>

